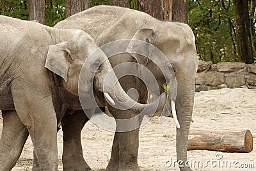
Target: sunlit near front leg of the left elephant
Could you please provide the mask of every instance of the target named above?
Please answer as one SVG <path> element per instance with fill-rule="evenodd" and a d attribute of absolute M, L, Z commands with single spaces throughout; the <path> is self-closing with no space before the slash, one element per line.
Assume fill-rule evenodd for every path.
<path fill-rule="evenodd" d="M 58 170 L 57 119 L 51 91 L 31 85 L 31 94 L 24 94 L 25 83 L 12 84 L 12 96 L 17 115 L 28 129 L 41 170 Z M 36 90 L 33 90 L 35 87 Z M 42 92 L 44 92 L 42 94 Z"/>

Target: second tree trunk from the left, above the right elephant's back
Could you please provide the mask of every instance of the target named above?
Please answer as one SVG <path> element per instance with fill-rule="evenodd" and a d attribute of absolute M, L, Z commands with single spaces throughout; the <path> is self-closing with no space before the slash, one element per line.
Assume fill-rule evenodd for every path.
<path fill-rule="evenodd" d="M 66 18 L 90 8 L 89 0 L 65 0 Z"/>

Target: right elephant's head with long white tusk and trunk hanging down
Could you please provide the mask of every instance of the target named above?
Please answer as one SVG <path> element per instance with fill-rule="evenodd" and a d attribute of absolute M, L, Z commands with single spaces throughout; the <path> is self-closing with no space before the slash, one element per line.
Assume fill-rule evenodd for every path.
<path fill-rule="evenodd" d="M 158 78 L 157 81 L 160 84 L 163 85 L 166 80 L 170 82 L 171 88 L 168 91 L 169 96 L 166 101 L 168 103 L 167 110 L 172 110 L 177 126 L 177 159 L 186 161 L 188 133 L 194 103 L 195 73 L 198 68 L 195 37 L 191 28 L 186 24 L 164 22 L 159 26 L 157 25 L 155 29 L 156 31 L 154 27 L 152 29 L 140 29 L 132 38 L 132 40 L 141 40 L 148 43 L 143 47 L 143 50 L 145 51 L 144 54 L 148 54 L 151 58 L 132 53 L 131 55 L 141 65 L 152 68 L 150 71 Z M 138 48 L 136 41 L 132 40 L 128 51 L 140 52 L 140 49 L 136 49 Z M 166 62 L 163 63 L 163 59 L 158 56 L 159 53 L 155 53 L 157 50 L 152 50 L 150 44 L 163 52 L 167 59 Z M 156 63 L 162 69 L 163 75 L 159 73 Z M 173 76 L 175 76 L 175 82 L 172 82 Z M 164 77 L 167 77 L 167 79 L 164 79 Z M 177 114 L 175 110 L 177 110 Z M 183 170 L 183 168 L 180 170 Z"/>

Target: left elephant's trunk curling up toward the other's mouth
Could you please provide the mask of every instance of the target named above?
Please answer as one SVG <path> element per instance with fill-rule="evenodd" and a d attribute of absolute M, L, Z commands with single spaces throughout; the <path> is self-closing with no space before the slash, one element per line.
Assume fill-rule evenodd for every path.
<path fill-rule="evenodd" d="M 166 95 L 162 93 L 159 99 L 150 104 L 138 103 L 130 98 L 118 81 L 108 79 L 105 85 L 108 85 L 104 89 L 105 98 L 113 105 L 113 107 L 121 110 L 129 110 L 134 114 L 150 115 L 163 110 L 166 103 Z M 110 81 L 111 80 L 111 81 Z M 115 85 L 114 85 L 115 84 Z"/>

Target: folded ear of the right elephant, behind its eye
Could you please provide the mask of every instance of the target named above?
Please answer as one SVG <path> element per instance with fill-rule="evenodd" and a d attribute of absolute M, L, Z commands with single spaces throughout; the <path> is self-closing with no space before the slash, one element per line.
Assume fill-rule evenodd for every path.
<path fill-rule="evenodd" d="M 152 44 L 155 36 L 155 31 L 152 29 L 139 29 L 132 37 L 126 52 L 129 52 L 132 57 L 136 58 L 139 64 L 146 66 L 148 64 L 148 57 L 151 55 L 150 44 Z M 141 43 L 141 41 L 147 43 Z M 144 54 L 145 57 L 134 52 L 142 52 L 141 54 Z"/>

